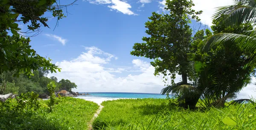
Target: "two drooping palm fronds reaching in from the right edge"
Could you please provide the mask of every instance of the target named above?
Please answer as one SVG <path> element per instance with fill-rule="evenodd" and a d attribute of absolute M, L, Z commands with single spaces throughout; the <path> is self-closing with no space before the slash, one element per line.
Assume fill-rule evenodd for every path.
<path fill-rule="evenodd" d="M 218 24 L 227 26 L 238 26 L 244 23 L 256 25 L 256 0 L 234 0 L 235 4 L 231 6 L 218 7 L 213 19 Z M 210 47 L 232 41 L 235 46 L 241 50 L 250 51 L 252 55 L 256 54 L 256 31 L 247 30 L 244 34 L 236 33 L 218 33 L 209 36 L 202 42 L 205 51 Z"/>

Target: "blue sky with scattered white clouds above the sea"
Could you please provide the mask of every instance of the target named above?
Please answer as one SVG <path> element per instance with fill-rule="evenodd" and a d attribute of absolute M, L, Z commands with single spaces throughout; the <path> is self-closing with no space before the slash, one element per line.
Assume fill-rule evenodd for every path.
<path fill-rule="evenodd" d="M 194 0 L 194 3 L 193 9 L 204 11 L 201 22 L 210 26 L 215 8 L 233 1 Z M 160 93 L 163 79 L 161 75 L 154 76 L 151 60 L 130 52 L 134 43 L 141 43 L 143 36 L 147 36 L 144 23 L 148 17 L 154 11 L 164 12 L 164 4 L 165 0 L 78 0 L 67 8 L 68 14 L 64 10 L 67 17 L 58 21 L 56 28 L 57 20 L 50 18 L 47 23 L 50 28 L 42 28 L 38 36 L 31 37 L 31 45 L 61 68 L 61 72 L 48 77 L 76 83 L 77 89 L 73 91 Z M 180 75 L 175 81 L 180 81 Z M 248 85 L 239 98 L 255 94 L 255 88 Z"/>

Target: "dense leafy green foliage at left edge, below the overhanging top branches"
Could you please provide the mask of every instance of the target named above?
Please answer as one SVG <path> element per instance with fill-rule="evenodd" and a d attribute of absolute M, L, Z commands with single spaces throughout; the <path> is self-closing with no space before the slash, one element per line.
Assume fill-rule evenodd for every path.
<path fill-rule="evenodd" d="M 60 71 L 58 66 L 38 55 L 29 45 L 30 39 L 20 37 L 19 35 L 7 35 L 6 31 L 0 32 L 0 71 L 15 70 L 14 76 L 19 77 L 20 72 L 24 75 L 33 75 L 33 71 L 39 67 L 49 69 L 51 72 Z"/>

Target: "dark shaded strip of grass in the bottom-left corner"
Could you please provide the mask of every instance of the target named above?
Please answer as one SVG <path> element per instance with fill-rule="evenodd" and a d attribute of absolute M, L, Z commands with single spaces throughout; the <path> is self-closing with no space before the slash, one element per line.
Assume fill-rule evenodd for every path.
<path fill-rule="evenodd" d="M 63 123 L 41 115 L 0 113 L 0 130 L 68 130 Z"/>

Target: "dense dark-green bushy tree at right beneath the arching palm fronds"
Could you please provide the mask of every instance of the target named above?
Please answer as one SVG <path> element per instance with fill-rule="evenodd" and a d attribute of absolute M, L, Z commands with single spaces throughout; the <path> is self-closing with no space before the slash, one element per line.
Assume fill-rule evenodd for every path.
<path fill-rule="evenodd" d="M 213 24 L 216 24 L 215 20 Z M 250 24 L 231 27 L 224 24 L 216 24 L 212 27 L 216 33 L 238 33 L 250 30 Z M 194 67 L 194 79 L 190 85 L 175 84 L 168 86 L 162 91 L 177 94 L 180 99 L 186 97 L 198 97 L 204 106 L 224 107 L 229 98 L 236 97 L 244 86 L 250 83 L 250 76 L 255 73 L 256 62 L 247 51 L 238 50 L 232 46 L 232 41 L 212 47 L 208 52 L 201 51 L 201 42 L 211 36 L 207 30 L 198 31 L 193 37 L 194 41 L 190 48 L 189 60 Z M 195 100 L 195 104 L 198 101 Z M 194 105 L 195 105 L 194 104 Z M 195 106 L 190 106 L 195 107 Z"/>

